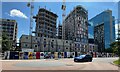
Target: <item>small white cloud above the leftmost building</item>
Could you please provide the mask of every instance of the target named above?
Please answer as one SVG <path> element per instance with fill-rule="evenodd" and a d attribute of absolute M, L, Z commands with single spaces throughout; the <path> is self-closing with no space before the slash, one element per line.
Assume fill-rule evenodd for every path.
<path fill-rule="evenodd" d="M 20 18 L 25 18 L 27 19 L 28 17 L 22 13 L 20 10 L 17 9 L 12 9 L 9 14 L 11 17 L 20 17 Z"/>

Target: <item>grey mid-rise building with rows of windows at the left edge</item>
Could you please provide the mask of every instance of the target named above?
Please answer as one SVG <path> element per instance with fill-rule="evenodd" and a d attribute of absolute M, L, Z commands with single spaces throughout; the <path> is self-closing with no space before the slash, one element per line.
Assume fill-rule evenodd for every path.
<path fill-rule="evenodd" d="M 13 47 L 17 43 L 17 22 L 11 19 L 0 19 L 0 33 L 6 33 Z"/>

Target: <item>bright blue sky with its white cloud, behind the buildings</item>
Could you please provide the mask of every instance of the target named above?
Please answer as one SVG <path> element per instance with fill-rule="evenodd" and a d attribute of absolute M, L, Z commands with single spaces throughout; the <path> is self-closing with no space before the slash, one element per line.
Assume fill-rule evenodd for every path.
<path fill-rule="evenodd" d="M 45 8 L 56 13 L 58 15 L 57 25 L 59 21 L 62 23 L 62 2 L 34 2 L 34 16 L 38 13 L 39 7 Z M 115 19 L 118 18 L 118 6 L 117 2 L 66 2 L 66 15 L 73 10 L 77 5 L 82 5 L 88 10 L 88 19 L 96 16 L 104 10 L 112 10 Z M 18 24 L 18 39 L 22 34 L 29 34 L 30 25 L 30 8 L 27 7 L 27 2 L 2 2 L 2 18 L 14 19 Z M 35 21 L 33 23 L 33 30 L 35 30 Z M 117 23 L 115 25 L 117 29 Z M 89 37 L 93 37 L 90 34 Z"/>

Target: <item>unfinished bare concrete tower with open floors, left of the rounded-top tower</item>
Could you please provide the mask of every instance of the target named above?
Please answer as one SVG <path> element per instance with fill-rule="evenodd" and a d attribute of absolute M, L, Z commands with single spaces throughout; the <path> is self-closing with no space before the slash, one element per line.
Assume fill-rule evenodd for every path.
<path fill-rule="evenodd" d="M 35 36 L 55 38 L 57 17 L 53 12 L 40 8 L 34 17 L 36 22 Z"/>

